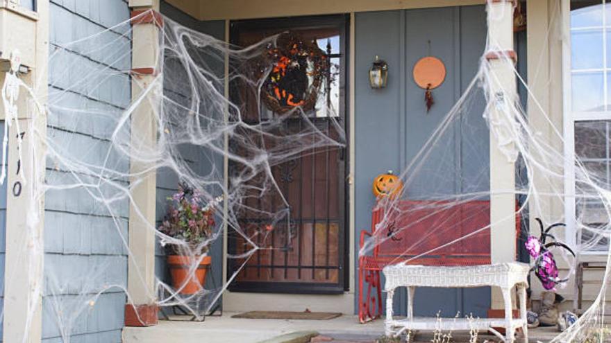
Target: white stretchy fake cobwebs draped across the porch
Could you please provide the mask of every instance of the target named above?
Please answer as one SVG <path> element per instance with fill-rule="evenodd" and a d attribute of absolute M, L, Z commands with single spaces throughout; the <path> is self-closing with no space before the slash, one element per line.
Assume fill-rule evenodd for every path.
<path fill-rule="evenodd" d="M 560 17 L 556 15 L 554 25 L 560 25 Z M 260 95 L 272 67 L 261 69 L 265 64 L 260 60 L 280 36 L 274 35 L 244 48 L 228 45 L 168 18 L 163 18 L 163 22 L 159 67 L 150 82 L 140 82 L 139 76 L 130 71 L 131 56 L 147 47 L 132 46 L 132 27 L 127 21 L 96 35 L 52 46 L 49 67 L 55 71 L 53 75 L 61 77 L 49 80 L 47 99 L 32 99 L 48 102 L 46 112 L 37 107 L 32 109 L 35 116 L 47 116 L 48 129 L 46 138 L 40 132 L 30 132 L 44 140 L 47 164 L 46 182 L 37 185 L 37 193 L 30 195 L 31 201 L 35 203 L 42 197 L 49 203 L 65 199 L 61 205 L 64 207 L 58 211 L 68 212 L 71 206 L 83 209 L 84 213 L 99 218 L 94 234 L 112 237 L 114 241 L 106 250 L 114 254 L 99 254 L 91 265 L 87 265 L 91 258 L 79 258 L 76 254 L 69 262 L 71 267 L 83 270 L 76 277 L 66 273 L 65 260 L 56 259 L 53 254 L 45 258 L 44 283 L 38 285 L 46 301 L 44 318 L 56 323 L 64 342 L 69 342 L 79 330 L 84 317 L 101 306 L 105 294 L 124 294 L 128 303 L 136 295 L 142 296 L 129 294 L 124 275 L 128 261 L 133 263 L 128 245 L 128 217 L 131 213 L 144 220 L 145 216 L 144 209 L 135 204 L 132 190 L 147 182 L 147 173 L 157 175 L 158 220 L 159 213 L 164 213 L 165 197 L 175 193 L 179 182 L 193 188 L 203 202 L 215 208 L 215 227 L 199 247 L 192 249 L 185 241 L 162 234 L 158 230 L 160 222 L 156 222 L 146 230 L 156 236 L 160 245 L 175 245 L 187 254 L 196 254 L 202 247 L 222 247 L 224 230 L 233 243 L 240 245 L 240 249 L 233 250 L 235 254 L 228 254 L 228 259 L 237 267 L 226 282 L 219 280 L 216 287 L 185 296 L 160 273 L 154 293 L 147 294 L 162 308 L 181 306 L 187 313 L 199 317 L 217 304 L 251 256 L 261 250 L 284 252 L 291 244 L 293 213 L 279 186 L 278 168 L 319 150 L 339 151 L 346 146 L 341 118 L 333 114 L 339 109 L 328 103 L 317 103 L 317 109 L 327 107 L 325 113 L 329 114 L 321 127 L 312 111 L 296 106 L 289 112 L 274 114 L 261 102 Z M 550 30 L 549 35 L 560 33 Z M 487 51 L 494 51 L 495 45 L 488 42 Z M 83 63 L 75 55 L 96 63 Z M 505 58 L 503 62 L 514 68 L 512 60 Z M 253 71 L 253 66 L 259 69 Z M 526 87 L 519 73 L 513 71 L 512 78 Z M 104 84 L 112 87 L 100 87 Z M 549 134 L 533 130 L 517 96 L 489 94 L 491 85 L 499 84 L 487 60 L 481 58 L 475 78 L 464 87 L 462 96 L 444 115 L 440 125 L 428 132 L 417 154 L 404 157 L 405 166 L 399 174 L 404 184 L 401 193 L 381 200 L 378 209 L 382 213 L 393 213 L 397 209 L 414 213 L 426 210 L 434 215 L 448 207 L 489 201 L 496 195 L 489 188 L 491 140 L 481 137 L 492 134 L 505 158 L 516 165 L 515 188 L 506 190 L 518 200 L 513 215 L 537 216 L 547 225 L 560 222 L 562 211 L 550 211 L 549 204 L 562 209 L 566 199 L 574 197 L 580 206 L 594 204 L 587 210 L 596 211 L 600 217 L 598 222 L 606 226 L 592 225 L 582 220 L 584 216 L 578 216 L 575 227 L 582 239 L 573 243 L 571 249 L 579 254 L 587 247 L 607 242 L 611 209 L 611 193 L 605 184 L 607 175 L 587 168 L 580 159 L 567 161 L 562 149 L 558 149 L 564 141 L 562 132 L 554 128 L 551 116 L 539 106 L 528 87 L 525 88 L 528 103 L 539 109 L 539 121 L 551 127 Z M 102 89 L 110 89 L 110 93 L 101 93 Z M 512 94 L 510 89 L 502 91 Z M 130 92 L 140 95 L 123 100 L 124 94 Z M 32 97 L 26 93 L 22 96 Z M 133 116 L 143 103 L 151 108 L 149 125 L 133 127 Z M 499 117 L 490 116 L 492 107 Z M 292 130 L 287 123 L 296 120 L 301 125 L 299 130 Z M 6 123 L 10 121 L 7 119 Z M 157 137 L 152 148 L 140 136 L 147 130 L 152 130 Z M 592 126 L 588 130 L 592 134 L 603 134 L 606 129 Z M 460 149 L 458 155 L 457 149 Z M 131 164 L 146 168 L 135 171 L 130 168 Z M 563 170 L 572 164 L 576 170 L 576 193 L 566 193 Z M 402 208 L 403 200 L 420 202 L 419 206 Z M 78 225 L 78 216 L 73 214 L 69 216 L 72 221 L 64 219 L 63 225 Z M 254 226 L 244 220 L 255 215 Z M 45 221 L 56 220 L 53 216 L 47 214 Z M 383 224 L 388 224 L 385 221 L 390 218 L 383 216 Z M 405 256 L 410 256 L 408 262 L 434 255 L 440 249 L 467 245 L 477 235 L 489 237 L 490 227 L 496 225 L 487 222 L 469 234 L 452 234 L 451 225 L 438 224 L 419 232 L 417 239 L 400 243 Z M 368 240 L 359 256 L 371 254 L 373 249 L 399 237 L 401 232 L 409 233 L 412 225 L 397 222 L 394 234 Z M 285 239 L 274 240 L 272 232 Z M 533 235 L 538 235 L 538 231 Z M 522 231 L 519 241 L 524 242 L 528 236 L 528 232 Z M 45 238 L 46 245 L 50 237 Z M 28 253 L 44 254 L 44 250 L 33 249 Z M 565 254 L 558 254 L 556 258 L 569 265 L 564 273 L 572 276 L 574 260 Z M 192 272 L 195 269 L 196 265 L 192 265 Z M 145 282 L 144 275 L 138 277 Z M 606 271 L 594 304 L 554 342 L 585 342 L 604 328 L 609 281 Z M 535 282 L 531 278 L 531 283 Z M 31 306 L 34 307 L 35 304 Z"/>

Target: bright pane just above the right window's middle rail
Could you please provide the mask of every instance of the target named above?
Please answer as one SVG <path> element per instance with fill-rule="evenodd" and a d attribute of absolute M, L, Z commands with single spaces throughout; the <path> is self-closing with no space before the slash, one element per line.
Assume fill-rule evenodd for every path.
<path fill-rule="evenodd" d="M 571 88 L 574 111 L 602 111 L 605 108 L 603 73 L 573 73 Z"/>

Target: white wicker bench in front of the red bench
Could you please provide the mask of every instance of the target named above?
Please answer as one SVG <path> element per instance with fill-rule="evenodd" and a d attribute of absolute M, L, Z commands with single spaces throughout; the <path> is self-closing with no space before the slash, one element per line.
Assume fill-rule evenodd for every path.
<path fill-rule="evenodd" d="M 496 263 L 492 265 L 475 265 L 471 267 L 437 267 L 424 265 L 405 265 L 399 263 L 384 268 L 386 298 L 385 331 L 387 336 L 400 335 L 405 331 L 434 331 L 435 329 L 452 331 L 470 331 L 472 329 L 490 331 L 505 342 L 514 342 L 516 328 L 522 328 L 524 342 L 528 343 L 528 326 L 526 322 L 526 288 L 528 271 L 524 263 Z M 414 291 L 417 287 L 472 288 L 494 286 L 501 288 L 505 301 L 505 318 L 414 318 Z M 392 298 L 394 290 L 405 287 L 408 290 L 408 317 L 394 319 L 392 316 Z M 520 302 L 520 318 L 512 317 L 511 290 L 517 287 Z M 494 330 L 505 328 L 505 337 Z"/>

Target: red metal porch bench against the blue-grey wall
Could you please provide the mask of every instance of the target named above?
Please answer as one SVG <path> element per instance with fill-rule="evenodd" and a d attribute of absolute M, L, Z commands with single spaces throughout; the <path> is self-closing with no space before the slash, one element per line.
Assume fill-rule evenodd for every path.
<path fill-rule="evenodd" d="M 360 233 L 360 322 L 382 313 L 380 271 L 386 265 L 484 265 L 490 263 L 488 200 L 401 200 L 376 206 L 371 231 Z M 516 230 L 519 233 L 519 216 Z M 369 239 L 365 240 L 365 237 Z"/>

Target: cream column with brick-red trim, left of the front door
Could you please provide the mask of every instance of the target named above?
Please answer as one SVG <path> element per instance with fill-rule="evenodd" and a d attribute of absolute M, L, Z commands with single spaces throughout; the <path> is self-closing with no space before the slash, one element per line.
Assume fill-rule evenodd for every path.
<path fill-rule="evenodd" d="M 162 19 L 159 0 L 130 0 L 132 8 L 132 100 L 144 94 L 131 114 L 131 147 L 137 155 L 154 156 L 160 109 L 159 30 Z M 144 15 L 142 15 L 144 13 Z M 140 17 L 137 17 L 141 15 Z M 134 19 L 137 17 L 137 19 Z M 156 84 L 153 84 L 156 83 Z M 156 170 L 154 161 L 130 163 L 132 204 L 129 211 L 129 250 L 125 307 L 126 326 L 157 324 L 155 277 Z M 130 301 L 133 301 L 130 302 Z"/>

